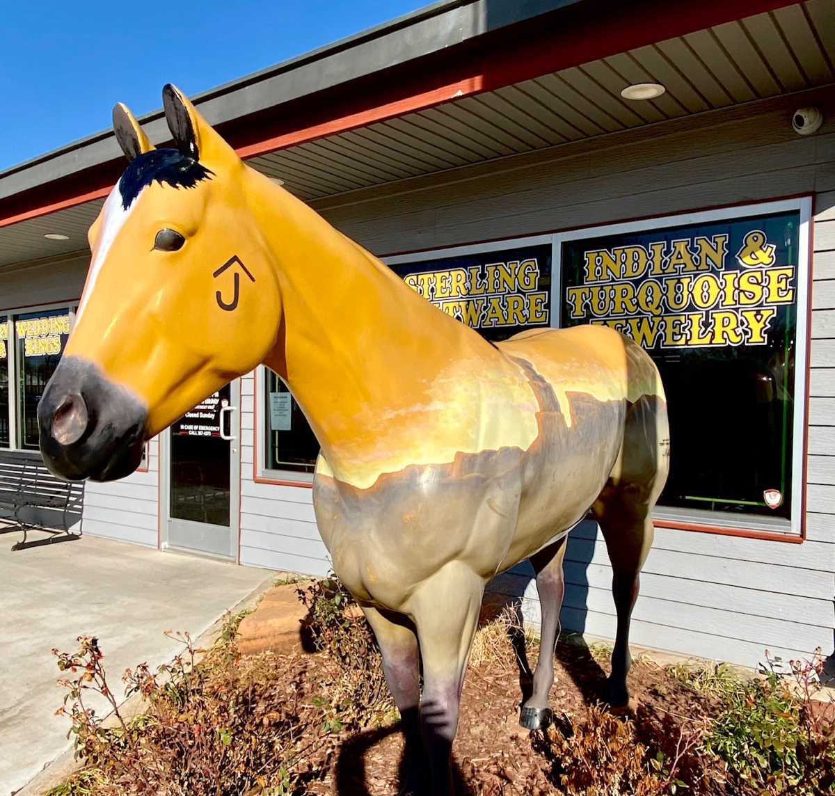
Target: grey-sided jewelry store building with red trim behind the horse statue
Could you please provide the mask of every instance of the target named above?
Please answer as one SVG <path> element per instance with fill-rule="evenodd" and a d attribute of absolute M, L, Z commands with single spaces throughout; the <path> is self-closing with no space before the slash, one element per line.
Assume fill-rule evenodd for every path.
<path fill-rule="evenodd" d="M 597 322 L 650 352 L 671 479 L 635 644 L 746 665 L 831 654 L 835 3 L 515 5 L 436 3 L 195 104 L 486 337 Z M 140 121 L 169 138 L 159 112 Z M 105 131 L 0 174 L 3 447 L 37 448 L 83 236 L 123 165 Z M 138 472 L 87 484 L 83 533 L 324 574 L 316 450 L 259 368 L 151 440 Z M 565 574 L 564 628 L 613 637 L 590 520 Z M 499 586 L 535 621 L 529 571 Z"/>

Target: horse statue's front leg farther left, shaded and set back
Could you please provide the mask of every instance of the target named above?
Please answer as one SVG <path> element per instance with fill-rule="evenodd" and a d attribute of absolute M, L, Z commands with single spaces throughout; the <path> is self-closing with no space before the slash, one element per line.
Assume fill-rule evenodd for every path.
<path fill-rule="evenodd" d="M 428 758 L 420 728 L 420 661 L 417 636 L 406 616 L 363 607 L 382 653 L 382 671 L 392 692 L 406 741 L 406 778 L 400 796 L 423 793 L 428 785 Z"/>

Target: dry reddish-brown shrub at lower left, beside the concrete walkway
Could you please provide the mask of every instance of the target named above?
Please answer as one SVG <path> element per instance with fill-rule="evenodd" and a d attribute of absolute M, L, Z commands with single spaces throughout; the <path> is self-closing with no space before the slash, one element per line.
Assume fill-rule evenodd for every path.
<path fill-rule="evenodd" d="M 123 717 L 108 685 L 99 643 L 80 637 L 75 653 L 59 653 L 71 677 L 63 711 L 72 720 L 75 754 L 85 768 L 52 796 L 78 793 L 147 793 L 154 796 L 263 796 L 299 792 L 310 758 L 333 745 L 324 712 L 302 683 L 311 662 L 264 655 L 242 659 L 234 630 L 206 652 L 190 637 L 174 635 L 185 652 L 150 672 L 146 664 L 124 676 L 126 692 L 138 693 L 144 709 Z M 307 677 L 305 677 L 307 675 Z M 115 726 L 104 725 L 89 695 L 99 693 L 114 709 Z"/>

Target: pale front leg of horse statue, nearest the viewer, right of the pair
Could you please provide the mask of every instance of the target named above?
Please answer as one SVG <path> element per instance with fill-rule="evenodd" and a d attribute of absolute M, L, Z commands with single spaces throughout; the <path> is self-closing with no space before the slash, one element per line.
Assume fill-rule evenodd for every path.
<path fill-rule="evenodd" d="M 423 659 L 420 720 L 433 796 L 453 793 L 453 738 L 483 592 L 482 578 L 453 561 L 424 581 L 409 601 Z"/>

